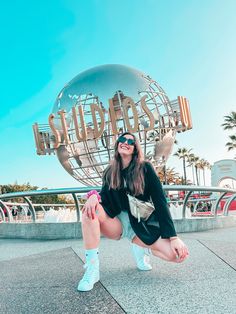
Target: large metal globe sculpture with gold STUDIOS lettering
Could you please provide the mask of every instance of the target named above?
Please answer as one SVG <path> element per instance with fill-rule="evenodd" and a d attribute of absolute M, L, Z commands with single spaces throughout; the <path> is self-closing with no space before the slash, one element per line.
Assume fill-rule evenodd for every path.
<path fill-rule="evenodd" d="M 176 132 L 191 128 L 187 109 L 184 97 L 170 101 L 155 80 L 136 69 L 98 66 L 80 73 L 61 90 L 49 128 L 34 125 L 37 152 L 55 153 L 76 180 L 98 186 L 117 137 L 130 131 L 138 137 L 145 158 L 161 168 Z"/>

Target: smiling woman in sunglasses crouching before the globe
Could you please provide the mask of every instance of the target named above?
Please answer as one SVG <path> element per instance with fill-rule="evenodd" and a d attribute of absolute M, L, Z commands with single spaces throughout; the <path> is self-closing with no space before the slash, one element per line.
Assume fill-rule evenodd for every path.
<path fill-rule="evenodd" d="M 139 221 L 131 214 L 127 192 L 143 201 L 152 200 L 155 210 L 147 221 Z M 119 136 L 101 192 L 90 191 L 87 198 L 82 209 L 87 269 L 78 284 L 79 291 L 89 291 L 99 281 L 100 234 L 113 240 L 129 238 L 140 270 L 152 269 L 146 260 L 148 252 L 177 263 L 188 256 L 186 245 L 176 235 L 160 180 L 152 165 L 144 161 L 133 134 L 125 132 Z"/>

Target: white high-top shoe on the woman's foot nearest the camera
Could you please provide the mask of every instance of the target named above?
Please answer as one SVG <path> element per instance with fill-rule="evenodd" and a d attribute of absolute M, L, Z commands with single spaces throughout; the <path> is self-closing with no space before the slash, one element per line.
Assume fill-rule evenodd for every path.
<path fill-rule="evenodd" d="M 96 282 L 99 281 L 99 259 L 88 261 L 84 268 L 86 268 L 83 278 L 80 280 L 77 290 L 78 291 L 89 291 L 93 289 Z"/>

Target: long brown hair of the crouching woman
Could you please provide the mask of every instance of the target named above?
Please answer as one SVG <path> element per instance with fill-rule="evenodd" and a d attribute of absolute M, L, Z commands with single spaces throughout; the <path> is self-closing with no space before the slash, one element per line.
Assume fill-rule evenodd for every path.
<path fill-rule="evenodd" d="M 126 183 L 133 195 L 143 194 L 144 191 L 144 173 L 143 173 L 143 152 L 137 138 L 130 132 L 125 132 L 120 136 L 129 134 L 133 136 L 135 140 L 134 151 L 132 159 L 128 166 L 128 172 L 126 177 Z M 110 166 L 105 171 L 104 179 L 105 183 L 109 185 L 109 188 L 120 189 L 122 187 L 122 161 L 118 152 L 118 140 L 115 143 L 114 159 L 111 161 Z"/>

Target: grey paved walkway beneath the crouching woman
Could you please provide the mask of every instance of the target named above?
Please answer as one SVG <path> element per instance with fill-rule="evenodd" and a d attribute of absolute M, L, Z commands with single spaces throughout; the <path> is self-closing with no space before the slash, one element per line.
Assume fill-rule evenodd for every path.
<path fill-rule="evenodd" d="M 183 264 L 136 270 L 127 240 L 102 239 L 101 281 L 87 293 L 81 240 L 0 239 L 0 313 L 235 313 L 236 228 L 182 234 Z"/>

